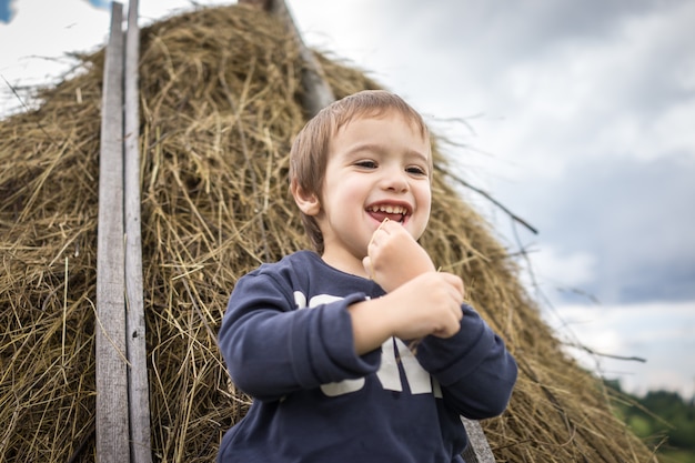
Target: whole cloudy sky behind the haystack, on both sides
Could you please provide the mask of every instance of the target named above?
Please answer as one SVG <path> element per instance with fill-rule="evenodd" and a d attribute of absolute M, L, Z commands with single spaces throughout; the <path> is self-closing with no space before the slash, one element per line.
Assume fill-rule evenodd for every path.
<path fill-rule="evenodd" d="M 288 3 L 310 47 L 404 97 L 461 177 L 537 229 L 462 192 L 525 251 L 570 353 L 629 392 L 695 394 L 694 1 Z M 21 110 L 10 85 L 105 43 L 107 4 L 0 0 L 0 114 Z M 193 8 L 140 0 L 140 24 Z"/>

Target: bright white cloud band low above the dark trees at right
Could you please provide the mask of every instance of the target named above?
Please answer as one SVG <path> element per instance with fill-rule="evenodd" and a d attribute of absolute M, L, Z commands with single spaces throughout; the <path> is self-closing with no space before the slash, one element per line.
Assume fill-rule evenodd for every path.
<path fill-rule="evenodd" d="M 626 391 L 695 394 L 695 301 L 561 305 L 545 312 L 545 319 L 568 343 L 595 353 L 568 349 L 585 368 L 618 379 Z"/>

